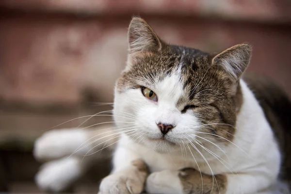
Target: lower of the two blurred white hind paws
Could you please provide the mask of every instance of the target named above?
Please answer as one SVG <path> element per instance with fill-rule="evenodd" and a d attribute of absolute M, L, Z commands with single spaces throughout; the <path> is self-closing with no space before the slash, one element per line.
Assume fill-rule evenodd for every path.
<path fill-rule="evenodd" d="M 70 157 L 45 163 L 36 174 L 37 186 L 43 191 L 61 192 L 81 176 L 80 159 Z"/>

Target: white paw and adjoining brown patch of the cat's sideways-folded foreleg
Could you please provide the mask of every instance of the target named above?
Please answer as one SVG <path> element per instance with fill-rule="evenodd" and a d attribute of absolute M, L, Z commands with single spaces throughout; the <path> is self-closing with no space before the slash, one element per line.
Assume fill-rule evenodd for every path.
<path fill-rule="evenodd" d="M 225 194 L 226 176 L 216 175 L 215 179 L 204 174 L 201 179 L 200 172 L 193 168 L 178 171 L 164 170 L 148 176 L 146 192 L 148 194 Z"/>

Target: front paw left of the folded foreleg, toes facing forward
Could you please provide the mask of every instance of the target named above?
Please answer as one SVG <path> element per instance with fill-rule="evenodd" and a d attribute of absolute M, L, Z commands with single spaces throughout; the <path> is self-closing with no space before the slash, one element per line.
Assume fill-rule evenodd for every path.
<path fill-rule="evenodd" d="M 98 194 L 141 194 L 144 183 L 138 177 L 109 175 L 101 181 Z"/>

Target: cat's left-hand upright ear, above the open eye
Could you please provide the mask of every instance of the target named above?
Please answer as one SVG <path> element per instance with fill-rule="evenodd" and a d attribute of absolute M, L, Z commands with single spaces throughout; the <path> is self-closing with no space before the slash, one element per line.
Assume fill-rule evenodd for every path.
<path fill-rule="evenodd" d="M 133 17 L 129 24 L 129 54 L 142 51 L 159 51 L 162 42 L 153 29 L 140 17 Z"/>

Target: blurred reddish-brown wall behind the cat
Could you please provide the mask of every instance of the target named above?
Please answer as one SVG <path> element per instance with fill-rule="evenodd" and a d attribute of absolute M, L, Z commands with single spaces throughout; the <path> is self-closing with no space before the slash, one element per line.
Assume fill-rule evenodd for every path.
<path fill-rule="evenodd" d="M 1 0 L 0 10 L 2 102 L 71 105 L 84 91 L 112 101 L 134 14 L 175 44 L 218 51 L 251 43 L 249 71 L 291 95 L 288 0 Z"/>

